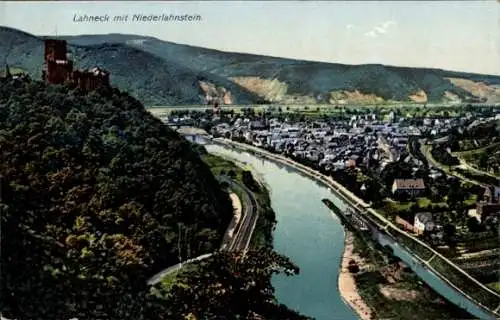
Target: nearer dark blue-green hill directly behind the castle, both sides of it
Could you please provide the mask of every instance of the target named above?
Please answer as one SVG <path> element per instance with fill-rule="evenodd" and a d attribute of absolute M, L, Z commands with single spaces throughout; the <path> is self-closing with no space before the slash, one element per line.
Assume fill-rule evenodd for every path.
<path fill-rule="evenodd" d="M 255 103 L 258 97 L 232 81 L 191 70 L 173 61 L 122 43 L 71 45 L 77 68 L 99 65 L 111 82 L 146 105 L 200 104 L 207 96 L 226 103 Z M 43 39 L 15 29 L 0 28 L 0 61 L 40 79 Z"/>

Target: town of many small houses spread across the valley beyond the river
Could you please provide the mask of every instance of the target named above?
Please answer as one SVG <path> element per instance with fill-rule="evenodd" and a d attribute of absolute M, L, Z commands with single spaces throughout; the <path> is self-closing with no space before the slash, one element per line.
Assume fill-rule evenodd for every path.
<path fill-rule="evenodd" d="M 285 108 L 172 108 L 158 116 L 171 127 L 204 128 L 332 176 L 401 229 L 496 286 L 500 108 L 342 108 L 333 114 Z M 451 150 L 457 139 L 463 148 L 493 148 L 490 166 L 458 161 L 452 154 L 460 152 Z"/>

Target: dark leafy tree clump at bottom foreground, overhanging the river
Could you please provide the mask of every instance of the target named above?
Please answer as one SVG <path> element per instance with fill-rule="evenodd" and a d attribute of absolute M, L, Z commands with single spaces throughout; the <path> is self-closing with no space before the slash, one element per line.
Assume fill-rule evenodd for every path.
<path fill-rule="evenodd" d="M 158 303 L 170 306 L 171 319 L 309 319 L 279 305 L 271 285 L 273 274 L 298 274 L 288 258 L 262 249 L 219 252 L 182 272 L 171 288 L 156 286 Z M 166 300 L 163 301 L 163 300 Z M 186 303 L 189 301 L 189 303 Z"/>

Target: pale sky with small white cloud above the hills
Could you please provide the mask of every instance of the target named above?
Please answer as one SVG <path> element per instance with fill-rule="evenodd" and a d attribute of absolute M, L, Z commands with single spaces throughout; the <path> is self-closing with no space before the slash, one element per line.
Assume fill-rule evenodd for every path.
<path fill-rule="evenodd" d="M 75 15 L 110 16 L 75 22 Z M 134 14 L 199 21 L 133 22 Z M 127 22 L 114 22 L 129 15 Z M 500 75 L 500 1 L 0 2 L 0 25 L 35 35 L 127 33 L 232 52 Z"/>

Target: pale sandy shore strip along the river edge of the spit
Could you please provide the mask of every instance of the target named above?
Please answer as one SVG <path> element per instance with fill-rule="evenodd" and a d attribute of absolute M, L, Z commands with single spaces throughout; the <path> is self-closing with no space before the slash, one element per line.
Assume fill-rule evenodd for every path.
<path fill-rule="evenodd" d="M 366 302 L 361 298 L 356 286 L 356 279 L 349 272 L 349 262 L 354 260 L 360 270 L 364 269 L 365 261 L 354 252 L 354 234 L 346 230 L 344 241 L 344 253 L 340 264 L 338 279 L 339 291 L 342 299 L 358 314 L 362 320 L 373 319 L 373 312 Z"/>

